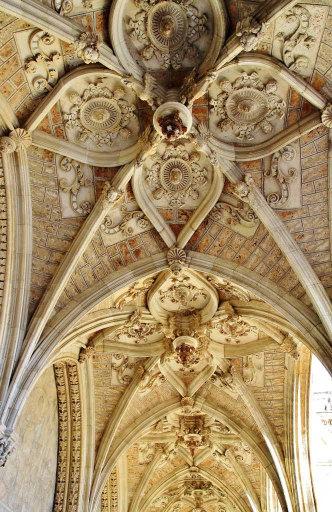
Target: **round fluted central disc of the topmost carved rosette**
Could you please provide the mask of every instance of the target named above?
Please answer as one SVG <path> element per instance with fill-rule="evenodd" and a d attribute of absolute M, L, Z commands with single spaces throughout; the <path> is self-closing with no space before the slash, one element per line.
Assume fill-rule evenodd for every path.
<path fill-rule="evenodd" d="M 152 44 L 162 52 L 175 51 L 186 38 L 188 24 L 183 9 L 172 2 L 161 2 L 148 16 L 148 34 Z"/>

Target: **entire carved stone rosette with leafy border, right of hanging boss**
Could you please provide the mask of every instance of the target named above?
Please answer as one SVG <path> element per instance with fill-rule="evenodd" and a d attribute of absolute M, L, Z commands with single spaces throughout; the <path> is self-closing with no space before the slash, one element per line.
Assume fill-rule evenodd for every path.
<path fill-rule="evenodd" d="M 222 93 L 211 99 L 211 112 L 222 118 L 218 125 L 222 132 L 232 130 L 237 139 L 252 140 L 259 129 L 265 134 L 274 131 L 270 121 L 276 116 L 284 117 L 286 103 L 275 94 L 276 80 L 264 86 L 255 72 L 250 75 L 243 72 L 241 76 L 233 84 L 227 79 L 220 82 Z"/>

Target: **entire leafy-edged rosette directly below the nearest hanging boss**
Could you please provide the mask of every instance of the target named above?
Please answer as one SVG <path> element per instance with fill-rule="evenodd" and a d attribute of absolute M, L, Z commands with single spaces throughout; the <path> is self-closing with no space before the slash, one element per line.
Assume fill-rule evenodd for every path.
<path fill-rule="evenodd" d="M 197 187 L 206 184 L 208 172 L 200 168 L 198 153 L 189 155 L 183 144 L 168 144 L 163 156 L 155 153 L 152 159 L 156 163 L 146 168 L 146 180 L 154 188 L 155 199 L 165 196 L 171 206 L 182 206 L 189 197 L 199 197 Z"/>

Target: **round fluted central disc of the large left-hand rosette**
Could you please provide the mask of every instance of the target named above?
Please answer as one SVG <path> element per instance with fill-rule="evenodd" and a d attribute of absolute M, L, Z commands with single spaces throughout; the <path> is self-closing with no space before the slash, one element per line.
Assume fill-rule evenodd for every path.
<path fill-rule="evenodd" d="M 118 126 L 120 120 L 121 111 L 109 98 L 92 98 L 80 111 L 82 125 L 93 132 L 109 132 Z"/>

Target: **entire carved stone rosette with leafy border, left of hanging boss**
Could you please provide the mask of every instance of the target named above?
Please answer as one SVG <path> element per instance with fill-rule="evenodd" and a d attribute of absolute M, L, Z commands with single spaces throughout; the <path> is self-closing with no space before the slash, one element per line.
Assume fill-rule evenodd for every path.
<path fill-rule="evenodd" d="M 123 99 L 124 94 L 122 87 L 112 92 L 101 82 L 96 86 L 91 83 L 82 96 L 74 93 L 69 97 L 74 106 L 70 114 L 65 114 L 66 127 L 79 132 L 78 142 L 90 137 L 98 147 L 103 144 L 111 146 L 118 135 L 128 139 L 131 132 L 126 126 L 131 118 L 137 117 L 134 114 L 135 105 L 129 105 Z"/>

